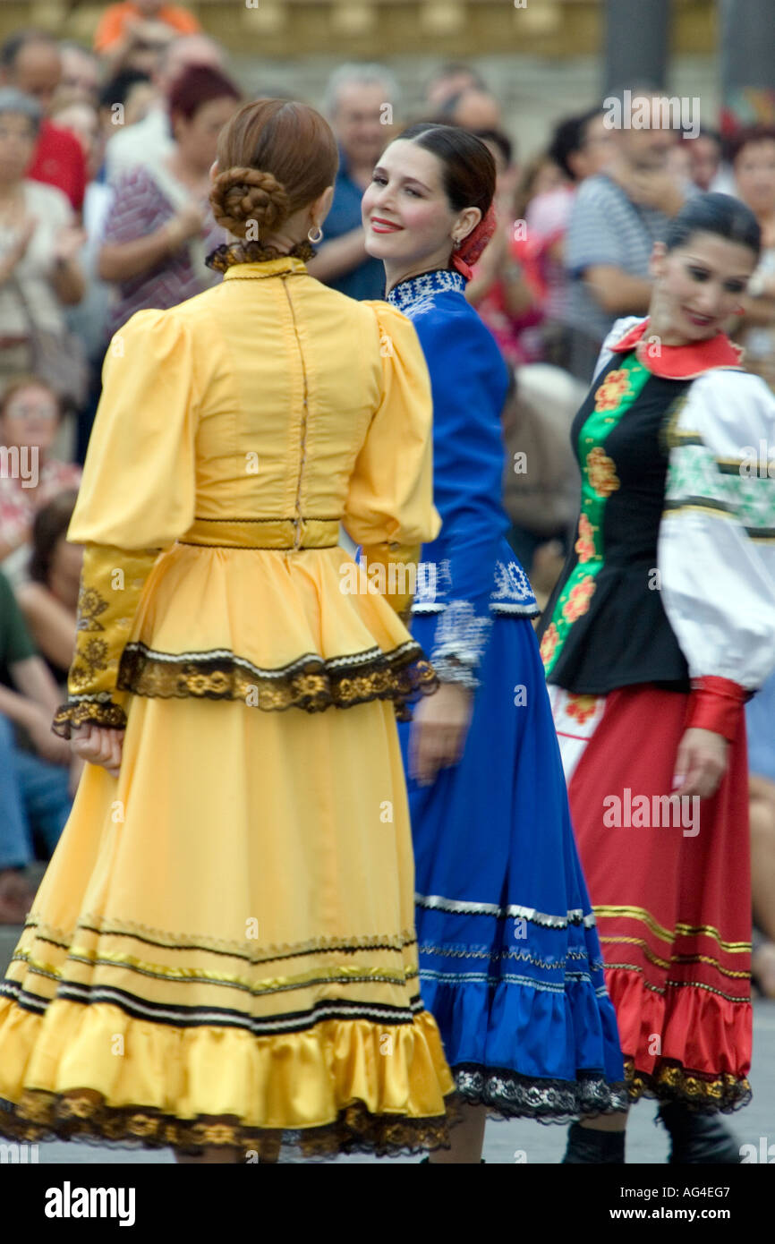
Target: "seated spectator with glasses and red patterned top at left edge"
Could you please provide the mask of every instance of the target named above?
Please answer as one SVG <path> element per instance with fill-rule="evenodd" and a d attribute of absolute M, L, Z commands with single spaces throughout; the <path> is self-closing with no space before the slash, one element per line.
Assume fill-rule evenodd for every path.
<path fill-rule="evenodd" d="M 37 511 L 81 483 L 80 466 L 52 457 L 61 420 L 57 394 L 35 376 L 16 377 L 0 398 L 0 444 L 19 463 L 0 474 L 0 562 L 14 582 L 25 577 Z"/>

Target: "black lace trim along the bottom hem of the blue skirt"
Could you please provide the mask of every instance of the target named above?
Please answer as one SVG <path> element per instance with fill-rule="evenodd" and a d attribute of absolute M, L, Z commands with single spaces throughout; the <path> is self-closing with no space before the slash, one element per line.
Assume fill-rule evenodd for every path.
<path fill-rule="evenodd" d="M 580 1071 L 570 1080 L 522 1076 L 509 1067 L 483 1067 L 460 1062 L 452 1069 L 460 1097 L 486 1106 L 498 1118 L 535 1118 L 539 1123 L 567 1123 L 626 1111 L 629 1096 L 624 1081 L 610 1084 L 600 1071 Z"/>

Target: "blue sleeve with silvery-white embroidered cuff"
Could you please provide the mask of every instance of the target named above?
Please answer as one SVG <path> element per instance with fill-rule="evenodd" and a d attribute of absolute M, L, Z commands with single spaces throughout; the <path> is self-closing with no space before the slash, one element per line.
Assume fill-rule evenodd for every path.
<path fill-rule="evenodd" d="M 501 411 L 508 372 L 478 317 L 413 320 L 433 388 L 434 499 L 448 559 L 448 605 L 430 661 L 444 680 L 476 685 L 491 627 L 493 567 L 509 521 L 501 504 Z"/>

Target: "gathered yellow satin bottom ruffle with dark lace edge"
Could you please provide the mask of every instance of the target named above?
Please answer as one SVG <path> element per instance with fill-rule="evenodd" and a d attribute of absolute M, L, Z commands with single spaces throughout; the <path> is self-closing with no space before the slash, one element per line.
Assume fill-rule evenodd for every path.
<path fill-rule="evenodd" d="M 448 1147 L 458 1113 L 428 1011 L 254 1037 L 63 999 L 45 1015 L 0 1000 L 0 1135 L 15 1140 L 234 1147 L 246 1161 L 276 1158 L 284 1138 L 309 1157 Z"/>

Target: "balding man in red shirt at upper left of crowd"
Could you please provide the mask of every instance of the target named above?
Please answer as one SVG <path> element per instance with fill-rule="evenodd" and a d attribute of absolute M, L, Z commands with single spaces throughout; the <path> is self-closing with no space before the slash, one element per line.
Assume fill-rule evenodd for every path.
<path fill-rule="evenodd" d="M 61 77 L 62 57 L 52 35 L 22 30 L 6 39 L 0 47 L 0 83 L 32 96 L 44 111 L 35 156 L 26 177 L 56 185 L 80 213 L 86 193 L 83 148 L 75 134 L 47 119 Z"/>

